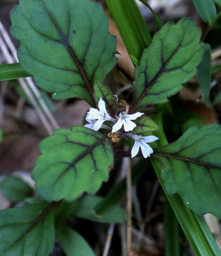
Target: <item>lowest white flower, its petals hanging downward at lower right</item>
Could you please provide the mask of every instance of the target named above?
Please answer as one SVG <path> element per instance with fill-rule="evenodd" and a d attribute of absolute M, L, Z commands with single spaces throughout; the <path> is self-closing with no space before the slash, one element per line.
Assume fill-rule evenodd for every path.
<path fill-rule="evenodd" d="M 141 148 L 141 152 L 143 154 L 144 158 L 147 158 L 150 156 L 150 154 L 153 153 L 152 148 L 147 144 L 150 142 L 153 142 L 155 140 L 158 140 L 159 138 L 153 135 L 150 136 L 140 136 L 132 133 L 126 134 L 127 136 L 133 138 L 135 140 L 134 146 L 131 150 L 131 158 L 134 158 L 138 155 L 139 147 Z"/>

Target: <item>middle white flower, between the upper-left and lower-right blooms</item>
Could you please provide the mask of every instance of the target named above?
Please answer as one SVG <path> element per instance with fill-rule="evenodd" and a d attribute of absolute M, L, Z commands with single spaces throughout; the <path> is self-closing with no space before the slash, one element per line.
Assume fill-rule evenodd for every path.
<path fill-rule="evenodd" d="M 118 121 L 112 128 L 112 132 L 119 130 L 122 126 L 124 126 L 125 131 L 133 130 L 137 125 L 131 120 L 135 120 L 142 115 L 143 113 L 140 112 L 137 112 L 133 115 L 128 115 L 125 112 L 120 113 Z"/>

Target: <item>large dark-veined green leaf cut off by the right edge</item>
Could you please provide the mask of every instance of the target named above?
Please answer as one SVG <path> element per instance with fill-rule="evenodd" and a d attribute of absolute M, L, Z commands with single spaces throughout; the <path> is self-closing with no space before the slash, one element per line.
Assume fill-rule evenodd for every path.
<path fill-rule="evenodd" d="M 197 214 L 221 219 L 221 126 L 192 127 L 177 141 L 155 150 L 167 192 L 179 193 Z"/>

